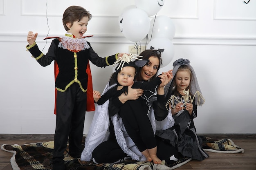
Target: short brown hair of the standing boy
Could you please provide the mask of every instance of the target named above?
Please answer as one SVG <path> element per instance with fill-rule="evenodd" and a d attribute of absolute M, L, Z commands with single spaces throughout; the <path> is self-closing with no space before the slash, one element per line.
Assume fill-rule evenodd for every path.
<path fill-rule="evenodd" d="M 71 26 L 73 25 L 73 22 L 80 21 L 83 17 L 88 17 L 89 20 L 92 18 L 92 15 L 89 11 L 84 9 L 83 7 L 79 6 L 70 6 L 68 7 L 64 13 L 62 18 L 62 23 L 66 31 L 69 30 L 69 28 L 66 26 L 67 23 L 71 23 Z"/>

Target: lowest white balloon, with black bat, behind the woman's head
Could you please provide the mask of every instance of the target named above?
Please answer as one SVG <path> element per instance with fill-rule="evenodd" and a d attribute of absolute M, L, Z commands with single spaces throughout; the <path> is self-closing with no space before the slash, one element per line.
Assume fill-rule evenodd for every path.
<path fill-rule="evenodd" d="M 154 38 L 151 40 L 146 49 L 159 50 L 162 55 L 162 66 L 167 66 L 173 60 L 174 57 L 174 45 L 168 38 Z"/>

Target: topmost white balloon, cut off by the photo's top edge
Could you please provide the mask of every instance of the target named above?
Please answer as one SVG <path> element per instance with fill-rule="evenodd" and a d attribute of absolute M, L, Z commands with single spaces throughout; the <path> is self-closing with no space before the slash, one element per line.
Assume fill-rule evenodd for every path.
<path fill-rule="evenodd" d="M 164 5 L 164 0 L 135 0 L 135 5 L 143 9 L 148 16 L 155 15 Z"/>

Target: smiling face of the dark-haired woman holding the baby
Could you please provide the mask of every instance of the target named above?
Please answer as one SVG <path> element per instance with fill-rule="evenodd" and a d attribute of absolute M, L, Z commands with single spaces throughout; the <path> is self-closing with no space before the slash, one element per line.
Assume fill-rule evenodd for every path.
<path fill-rule="evenodd" d="M 159 59 L 155 56 L 151 56 L 148 58 L 149 62 L 141 69 L 141 78 L 144 81 L 148 81 L 152 78 L 156 73 L 159 67 Z"/>

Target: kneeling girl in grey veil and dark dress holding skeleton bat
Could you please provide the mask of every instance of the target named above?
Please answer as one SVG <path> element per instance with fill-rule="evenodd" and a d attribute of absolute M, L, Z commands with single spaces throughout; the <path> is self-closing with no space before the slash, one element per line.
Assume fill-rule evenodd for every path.
<path fill-rule="evenodd" d="M 190 61 L 180 58 L 173 66 L 173 79 L 164 87 L 167 102 L 162 106 L 160 104 L 161 109 L 155 109 L 155 112 L 164 117 L 168 108 L 175 125 L 166 130 L 157 130 L 156 135 L 176 146 L 180 155 L 202 161 L 209 155 L 202 149 L 202 140 L 196 134 L 193 119 L 197 117 L 197 106 L 204 104 L 204 98 Z M 189 101 L 184 100 L 186 92 L 189 92 Z"/>

